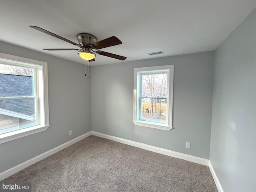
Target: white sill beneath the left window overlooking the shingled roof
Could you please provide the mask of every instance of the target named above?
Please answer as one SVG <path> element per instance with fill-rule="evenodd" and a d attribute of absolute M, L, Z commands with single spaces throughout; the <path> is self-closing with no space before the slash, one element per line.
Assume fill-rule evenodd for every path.
<path fill-rule="evenodd" d="M 41 125 L 37 125 L 37 126 L 33 126 L 33 127 L 28 127 L 28 128 L 24 128 L 24 129 L 20 129 L 20 130 L 16 130 L 16 131 L 12 131 L 12 132 L 8 132 L 8 133 L 4 133 L 0 135 L 0 144 L 1 143 L 5 143 L 8 141 L 12 141 L 18 138 L 22 138 L 28 135 L 32 135 L 38 132 L 42 132 L 45 131 L 50 125 L 47 126 L 41 126 Z"/>

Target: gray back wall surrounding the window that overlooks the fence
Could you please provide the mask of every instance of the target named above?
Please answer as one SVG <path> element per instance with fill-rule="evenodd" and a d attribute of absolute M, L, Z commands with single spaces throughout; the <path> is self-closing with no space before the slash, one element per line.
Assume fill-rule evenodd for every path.
<path fill-rule="evenodd" d="M 135 126 L 134 68 L 170 64 L 174 64 L 174 129 Z M 93 66 L 92 130 L 209 159 L 213 66 L 214 52 Z"/>

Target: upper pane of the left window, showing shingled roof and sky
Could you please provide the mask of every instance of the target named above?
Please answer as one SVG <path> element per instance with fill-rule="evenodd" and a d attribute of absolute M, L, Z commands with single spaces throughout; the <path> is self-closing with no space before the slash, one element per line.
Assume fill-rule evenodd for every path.
<path fill-rule="evenodd" d="M 0 97 L 34 96 L 32 68 L 0 64 Z"/>

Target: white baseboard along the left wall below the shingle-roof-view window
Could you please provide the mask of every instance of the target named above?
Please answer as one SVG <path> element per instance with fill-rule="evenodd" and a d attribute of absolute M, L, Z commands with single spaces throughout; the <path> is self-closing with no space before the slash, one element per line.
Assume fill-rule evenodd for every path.
<path fill-rule="evenodd" d="M 68 141 L 68 142 L 66 142 L 66 143 L 64 143 L 64 144 L 62 144 L 62 145 L 60 145 L 58 147 L 55 147 L 55 148 L 53 148 L 53 149 L 51 149 L 49 151 L 46 151 L 46 152 L 44 152 L 44 153 L 42 153 L 42 154 L 40 154 L 40 155 L 38 155 L 38 156 L 36 156 L 36 157 L 34 157 L 32 159 L 29 159 L 29 160 L 27 160 L 27 161 L 25 161 L 25 162 L 23 162 L 21 164 L 18 164 L 16 166 L 14 166 L 14 167 L 12 167 L 12 168 L 10 168 L 10 169 L 0 173 L 0 181 L 5 179 L 5 178 L 7 178 L 7 177 L 9 177 L 9 176 L 11 176 L 11 175 L 13 175 L 13 174 L 15 174 L 15 173 L 17 173 L 17 172 L 19 172 L 19 171 L 21 171 L 22 169 L 24 169 L 24 168 L 26 168 L 26 167 L 28 167 L 28 166 L 30 166 L 30 165 L 40 161 L 40 160 L 43 160 L 44 158 L 46 158 L 46 157 L 48 157 L 48 156 L 50 156 L 50 155 L 52 155 L 52 154 L 54 154 L 56 152 L 59 152 L 60 150 L 66 148 L 66 147 L 68 147 L 68 146 L 70 146 L 72 144 L 75 144 L 76 142 L 78 142 L 78 141 L 80 141 L 80 140 L 90 136 L 91 134 L 92 134 L 91 131 L 87 132 L 86 134 L 83 134 L 83 135 L 81 135 L 81 136 L 79 136 L 77 138 L 74 138 L 74 139 L 72 139 L 72 140 L 70 140 L 70 141 Z"/>

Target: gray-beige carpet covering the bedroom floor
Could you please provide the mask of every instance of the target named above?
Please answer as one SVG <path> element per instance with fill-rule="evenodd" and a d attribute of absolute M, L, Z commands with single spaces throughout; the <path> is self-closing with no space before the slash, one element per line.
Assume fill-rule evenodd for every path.
<path fill-rule="evenodd" d="M 207 166 L 90 136 L 3 181 L 33 192 L 218 192 Z"/>

